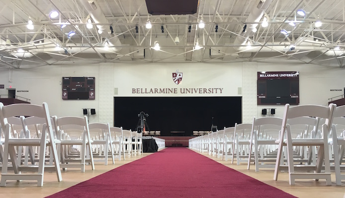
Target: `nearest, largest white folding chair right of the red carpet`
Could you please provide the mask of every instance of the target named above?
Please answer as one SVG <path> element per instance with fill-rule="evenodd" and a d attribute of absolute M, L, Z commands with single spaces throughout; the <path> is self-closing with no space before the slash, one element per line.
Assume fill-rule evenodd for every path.
<path fill-rule="evenodd" d="M 334 109 L 336 105 L 330 104 L 329 106 L 321 105 L 299 105 L 290 107 L 289 104 L 285 104 L 283 122 L 281 125 L 278 153 L 276 158 L 275 170 L 274 170 L 274 180 L 278 179 L 278 173 L 281 170 L 289 171 L 289 183 L 290 185 L 295 184 L 296 179 L 326 179 L 326 184 L 331 185 L 331 169 L 330 169 L 330 157 L 328 148 L 328 135 L 331 130 L 332 119 L 334 114 Z M 292 139 L 291 137 L 291 127 L 287 123 L 288 119 L 297 117 L 319 117 L 326 118 L 325 123 L 322 125 L 322 135 L 321 139 Z M 281 165 L 280 160 L 282 157 L 283 147 L 287 147 L 287 166 Z M 317 146 L 318 158 L 316 165 L 298 165 L 295 166 L 293 159 L 293 147 L 294 146 Z M 325 164 L 325 172 L 321 172 L 323 168 L 323 163 Z M 296 171 L 304 172 L 296 172 Z M 308 173 L 305 171 L 314 171 L 313 173 Z"/>

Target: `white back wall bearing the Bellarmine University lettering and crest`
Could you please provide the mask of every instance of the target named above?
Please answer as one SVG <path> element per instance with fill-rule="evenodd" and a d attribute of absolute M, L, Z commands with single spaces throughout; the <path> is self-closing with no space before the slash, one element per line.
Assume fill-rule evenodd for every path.
<path fill-rule="evenodd" d="M 179 85 L 173 82 L 172 73 L 183 73 Z M 296 64 L 291 61 L 279 62 L 217 62 L 217 63 L 146 63 L 119 62 L 92 64 L 71 62 L 21 69 L 0 67 L 0 95 L 6 95 L 6 88 L 29 92 L 16 93 L 31 99 L 31 103 L 47 102 L 51 115 L 83 116 L 83 108 L 95 108 L 96 115 L 90 115 L 90 122 L 113 123 L 113 97 L 190 97 L 190 96 L 243 96 L 243 122 L 251 122 L 253 116 L 261 117 L 262 108 L 276 108 L 274 116 L 281 117 L 283 105 L 257 105 L 256 76 L 258 71 L 299 71 L 300 104 L 328 105 L 328 99 L 343 95 L 331 89 L 345 88 L 345 69 L 314 64 Z M 95 77 L 95 100 L 63 100 L 62 77 Z M 11 80 L 11 82 L 9 82 Z M 114 88 L 118 93 L 115 95 Z M 133 94 L 136 88 L 177 88 L 176 94 Z M 222 93 L 181 94 L 179 89 L 221 88 Z M 242 93 L 239 94 L 239 89 Z"/>

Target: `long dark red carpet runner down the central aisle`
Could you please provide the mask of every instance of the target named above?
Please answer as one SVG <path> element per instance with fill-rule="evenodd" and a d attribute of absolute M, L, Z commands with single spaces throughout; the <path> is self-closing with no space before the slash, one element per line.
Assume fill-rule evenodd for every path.
<path fill-rule="evenodd" d="M 294 198 L 188 148 L 166 148 L 48 198 Z"/>

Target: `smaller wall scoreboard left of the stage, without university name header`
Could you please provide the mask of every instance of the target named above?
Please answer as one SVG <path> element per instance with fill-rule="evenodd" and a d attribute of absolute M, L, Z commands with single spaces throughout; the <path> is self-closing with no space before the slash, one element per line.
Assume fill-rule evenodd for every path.
<path fill-rule="evenodd" d="M 95 99 L 94 77 L 62 77 L 62 99 Z"/>

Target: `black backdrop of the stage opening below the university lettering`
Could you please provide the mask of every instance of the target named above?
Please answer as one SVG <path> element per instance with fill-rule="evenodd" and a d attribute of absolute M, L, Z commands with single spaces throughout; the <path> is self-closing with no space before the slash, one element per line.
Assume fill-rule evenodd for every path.
<path fill-rule="evenodd" d="M 191 136 L 211 131 L 212 117 L 219 130 L 242 123 L 242 97 L 114 97 L 114 126 L 136 130 L 141 111 L 151 131 Z"/>

